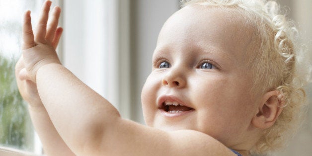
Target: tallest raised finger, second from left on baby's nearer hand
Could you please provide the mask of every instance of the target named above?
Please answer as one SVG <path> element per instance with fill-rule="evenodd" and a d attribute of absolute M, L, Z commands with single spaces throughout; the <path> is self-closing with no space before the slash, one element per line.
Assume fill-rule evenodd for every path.
<path fill-rule="evenodd" d="M 47 21 L 49 18 L 49 11 L 51 6 L 51 1 L 47 0 L 42 6 L 41 15 L 36 27 L 35 41 L 44 42 L 46 31 L 47 31 Z"/>

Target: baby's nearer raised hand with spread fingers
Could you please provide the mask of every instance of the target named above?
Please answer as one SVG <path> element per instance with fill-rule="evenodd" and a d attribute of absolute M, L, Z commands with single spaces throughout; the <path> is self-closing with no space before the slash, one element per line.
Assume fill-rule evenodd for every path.
<path fill-rule="evenodd" d="M 55 51 L 62 32 L 62 28 L 57 28 L 61 9 L 54 8 L 47 25 L 50 6 L 51 1 L 45 1 L 35 34 L 32 31 L 30 11 L 24 16 L 22 59 L 28 79 L 34 83 L 40 67 L 46 64 L 61 64 Z"/>

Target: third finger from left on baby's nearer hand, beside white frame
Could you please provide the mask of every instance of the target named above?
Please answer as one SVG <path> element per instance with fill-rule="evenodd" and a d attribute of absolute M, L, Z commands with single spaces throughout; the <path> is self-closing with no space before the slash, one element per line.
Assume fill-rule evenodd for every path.
<path fill-rule="evenodd" d="M 61 8 L 58 6 L 55 6 L 53 9 L 52 17 L 49 19 L 49 24 L 47 28 L 47 34 L 46 34 L 46 40 L 52 42 L 56 28 L 59 23 L 59 18 L 61 14 Z"/>

